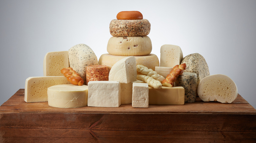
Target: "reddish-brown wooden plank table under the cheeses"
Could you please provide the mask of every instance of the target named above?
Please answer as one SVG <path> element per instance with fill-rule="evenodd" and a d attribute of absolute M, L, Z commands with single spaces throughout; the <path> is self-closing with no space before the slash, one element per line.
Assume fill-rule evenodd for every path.
<path fill-rule="evenodd" d="M 256 142 L 256 110 L 203 102 L 133 108 L 54 108 L 19 89 L 0 106 L 0 142 Z"/>

